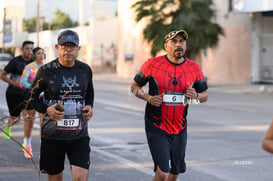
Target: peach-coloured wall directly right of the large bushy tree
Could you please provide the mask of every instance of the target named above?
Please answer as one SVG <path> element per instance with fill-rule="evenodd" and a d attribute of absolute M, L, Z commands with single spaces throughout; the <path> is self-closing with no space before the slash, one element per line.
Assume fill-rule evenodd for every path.
<path fill-rule="evenodd" d="M 225 26 L 224 31 L 217 48 L 202 54 L 201 67 L 208 83 L 249 84 L 250 27 Z"/>

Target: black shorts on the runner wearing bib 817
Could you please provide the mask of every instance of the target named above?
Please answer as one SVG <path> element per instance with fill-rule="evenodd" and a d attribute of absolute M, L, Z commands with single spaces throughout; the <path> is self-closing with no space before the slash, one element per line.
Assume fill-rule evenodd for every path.
<path fill-rule="evenodd" d="M 70 165 L 89 169 L 90 146 L 89 137 L 73 141 L 41 140 L 40 170 L 42 173 L 57 175 L 64 170 L 65 155 Z"/>

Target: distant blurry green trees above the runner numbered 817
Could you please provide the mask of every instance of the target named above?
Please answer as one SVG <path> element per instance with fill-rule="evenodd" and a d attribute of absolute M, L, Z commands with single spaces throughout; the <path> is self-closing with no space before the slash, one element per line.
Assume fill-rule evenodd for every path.
<path fill-rule="evenodd" d="M 55 17 L 50 23 L 43 21 L 41 30 L 57 30 L 62 28 L 71 28 L 78 26 L 78 22 L 73 22 L 68 14 L 56 9 Z M 23 20 L 23 31 L 36 32 L 36 17 Z"/>

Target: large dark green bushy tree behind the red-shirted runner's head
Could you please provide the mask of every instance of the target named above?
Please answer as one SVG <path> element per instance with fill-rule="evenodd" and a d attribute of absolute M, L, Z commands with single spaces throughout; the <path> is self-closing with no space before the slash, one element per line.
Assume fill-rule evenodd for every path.
<path fill-rule="evenodd" d="M 208 47 L 215 47 L 223 29 L 213 20 L 216 10 L 212 0 L 139 0 L 132 5 L 136 21 L 145 20 L 144 39 L 153 42 L 151 54 L 164 48 L 164 36 L 175 29 L 189 33 L 187 49 L 191 56 Z M 194 58 L 194 57 L 193 57 Z"/>

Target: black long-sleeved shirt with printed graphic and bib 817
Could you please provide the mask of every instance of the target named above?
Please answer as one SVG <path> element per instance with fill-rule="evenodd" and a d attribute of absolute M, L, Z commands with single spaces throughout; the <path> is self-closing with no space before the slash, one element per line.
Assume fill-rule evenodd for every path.
<path fill-rule="evenodd" d="M 47 114 L 43 121 L 43 138 L 73 139 L 88 135 L 87 122 L 82 119 L 82 109 L 93 107 L 94 90 L 90 67 L 76 61 L 74 67 L 63 67 L 54 60 L 37 72 L 33 86 L 38 84 L 33 94 L 32 105 L 39 112 L 46 113 L 53 104 L 61 104 L 64 118 L 53 120 Z M 44 91 L 44 99 L 39 95 Z"/>

